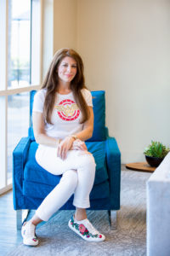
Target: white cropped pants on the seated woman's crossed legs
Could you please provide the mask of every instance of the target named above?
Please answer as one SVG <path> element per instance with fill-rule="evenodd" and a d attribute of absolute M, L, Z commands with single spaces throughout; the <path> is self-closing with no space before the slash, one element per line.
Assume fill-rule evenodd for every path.
<path fill-rule="evenodd" d="M 94 185 L 95 161 L 92 154 L 81 150 L 69 150 L 65 160 L 57 157 L 57 149 L 40 145 L 36 153 L 37 163 L 54 175 L 63 174 L 59 184 L 37 208 L 37 216 L 44 221 L 58 211 L 74 193 L 73 205 L 90 207 L 89 194 Z"/>

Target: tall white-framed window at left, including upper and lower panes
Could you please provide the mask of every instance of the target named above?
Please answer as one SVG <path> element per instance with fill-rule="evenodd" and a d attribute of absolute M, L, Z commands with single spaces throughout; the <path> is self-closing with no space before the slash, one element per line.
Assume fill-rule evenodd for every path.
<path fill-rule="evenodd" d="M 12 153 L 29 126 L 40 84 L 40 0 L 0 1 L 0 193 L 11 187 Z"/>

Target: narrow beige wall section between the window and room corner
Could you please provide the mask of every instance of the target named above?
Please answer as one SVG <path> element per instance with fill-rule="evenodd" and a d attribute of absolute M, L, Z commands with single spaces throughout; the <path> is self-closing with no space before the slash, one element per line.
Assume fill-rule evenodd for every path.
<path fill-rule="evenodd" d="M 77 0 L 42 0 L 42 77 L 54 53 L 60 48 L 77 46 Z"/>

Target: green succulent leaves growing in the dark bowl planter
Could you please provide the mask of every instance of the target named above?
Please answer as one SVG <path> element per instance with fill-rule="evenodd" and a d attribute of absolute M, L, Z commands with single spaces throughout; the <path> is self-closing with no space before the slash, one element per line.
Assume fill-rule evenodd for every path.
<path fill-rule="evenodd" d="M 162 143 L 151 141 L 151 144 L 144 148 L 144 154 L 153 157 L 164 158 L 170 148 L 166 148 Z"/>

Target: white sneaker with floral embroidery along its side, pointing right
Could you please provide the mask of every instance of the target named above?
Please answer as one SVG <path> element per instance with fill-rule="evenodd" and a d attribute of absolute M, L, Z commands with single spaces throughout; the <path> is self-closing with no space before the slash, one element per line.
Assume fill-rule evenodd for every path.
<path fill-rule="evenodd" d="M 88 218 L 77 221 L 72 216 L 69 220 L 68 226 L 71 230 L 81 236 L 86 241 L 104 241 L 105 236 L 100 234 L 98 230 L 89 222 Z"/>

